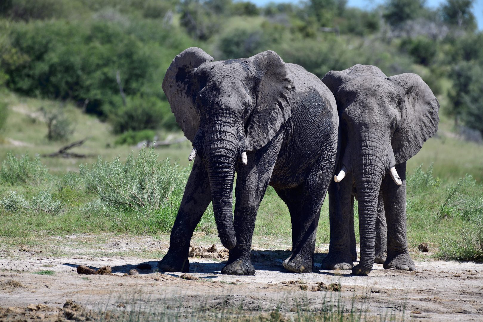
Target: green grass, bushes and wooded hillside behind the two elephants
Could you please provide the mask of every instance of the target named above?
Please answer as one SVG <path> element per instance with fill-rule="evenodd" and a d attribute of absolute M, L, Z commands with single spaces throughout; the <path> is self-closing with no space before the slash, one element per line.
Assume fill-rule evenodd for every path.
<path fill-rule="evenodd" d="M 135 145 L 183 137 L 161 89 L 171 60 L 190 46 L 216 59 L 271 49 L 319 77 L 357 63 L 387 76 L 421 75 L 441 121 L 408 163 L 410 245 L 432 242 L 443 258 L 482 260 L 483 33 L 473 2 L 430 9 L 422 0 L 387 0 L 361 10 L 344 0 L 263 8 L 232 0 L 1 1 L 1 240 L 168 232 L 190 143 L 156 152 Z M 85 159 L 43 156 L 84 138 L 72 151 Z M 179 165 L 161 162 L 168 157 Z M 210 211 L 198 228 L 208 234 Z M 318 245 L 327 232 L 325 204 Z M 288 212 L 271 188 L 256 234 L 289 244 Z"/>

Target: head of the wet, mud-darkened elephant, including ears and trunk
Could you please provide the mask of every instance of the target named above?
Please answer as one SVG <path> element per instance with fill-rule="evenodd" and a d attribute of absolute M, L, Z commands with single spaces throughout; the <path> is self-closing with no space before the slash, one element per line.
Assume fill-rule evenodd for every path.
<path fill-rule="evenodd" d="M 250 58 L 213 61 L 191 47 L 176 56 L 163 80 L 171 111 L 193 143 L 190 161 L 203 161 L 210 182 L 221 242 L 236 245 L 232 189 L 235 170 L 246 164 L 246 151 L 265 146 L 297 106 L 284 61 L 266 51 Z"/>

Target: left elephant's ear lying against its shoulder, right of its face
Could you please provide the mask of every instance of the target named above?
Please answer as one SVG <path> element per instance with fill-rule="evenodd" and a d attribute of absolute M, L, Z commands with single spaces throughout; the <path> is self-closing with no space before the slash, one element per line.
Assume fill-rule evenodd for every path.
<path fill-rule="evenodd" d="M 268 50 L 247 59 L 255 69 L 256 105 L 246 126 L 247 149 L 265 146 L 292 115 L 298 94 L 284 61 Z"/>

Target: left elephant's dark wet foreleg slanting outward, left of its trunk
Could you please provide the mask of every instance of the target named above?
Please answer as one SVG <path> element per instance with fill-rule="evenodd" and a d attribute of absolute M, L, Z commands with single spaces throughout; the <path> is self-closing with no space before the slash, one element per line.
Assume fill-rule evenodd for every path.
<path fill-rule="evenodd" d="M 171 230 L 170 249 L 157 264 L 160 270 L 165 272 L 189 271 L 188 252 L 191 237 L 211 200 L 208 173 L 201 159 L 197 157 Z"/>

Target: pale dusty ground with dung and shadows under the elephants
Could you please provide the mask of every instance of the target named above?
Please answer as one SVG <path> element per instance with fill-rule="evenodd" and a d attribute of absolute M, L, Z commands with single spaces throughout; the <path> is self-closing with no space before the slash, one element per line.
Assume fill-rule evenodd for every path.
<path fill-rule="evenodd" d="M 115 253 L 129 248 L 166 250 L 167 246 L 162 241 L 117 237 L 99 245 L 99 250 Z M 407 321 L 483 321 L 483 264 L 425 260 L 421 254 L 413 253 L 414 272 L 384 270 L 375 264 L 367 277 L 353 276 L 350 271 L 292 274 L 281 265 L 288 251 L 258 249 L 252 256 L 256 276 L 226 276 L 220 274 L 224 266 L 220 257 L 225 252 L 221 245 L 217 246 L 219 252 L 213 252 L 213 256 L 219 253 L 218 258 L 190 258 L 190 276 L 199 280 L 185 280 L 179 278 L 181 273 L 162 274 L 153 269 L 138 269 L 138 275 L 125 275 L 142 263 L 156 268 L 157 259 L 153 258 L 75 256 L 69 252 L 57 256 L 29 248 L 3 249 L 0 307 L 4 309 L 0 309 L 0 321 L 2 313 L 7 316 L 15 312 L 27 312 L 37 320 L 48 318 L 69 299 L 74 306 L 94 311 L 182 310 L 188 314 L 278 309 L 290 316 L 298 310 L 316 313 L 338 305 L 349 312 L 354 305 L 369 320 L 377 321 L 389 320 L 391 316 Z M 325 256 L 325 250 L 320 251 L 316 254 L 319 267 Z M 114 275 L 78 274 L 79 265 L 95 269 L 111 266 Z M 43 270 L 54 275 L 33 274 Z M 339 287 L 341 292 L 337 292 Z M 64 317 L 69 308 L 64 308 Z"/>

